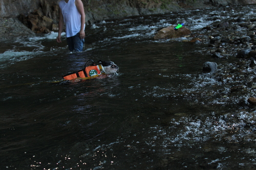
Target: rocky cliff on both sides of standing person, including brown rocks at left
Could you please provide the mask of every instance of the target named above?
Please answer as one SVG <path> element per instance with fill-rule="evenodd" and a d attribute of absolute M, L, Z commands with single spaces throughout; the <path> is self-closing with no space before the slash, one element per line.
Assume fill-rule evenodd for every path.
<path fill-rule="evenodd" d="M 58 2 L 60 0 L 0 0 L 0 28 L 3 32 L 15 31 L 20 21 L 35 33 L 57 29 Z M 86 23 L 134 15 L 150 15 L 206 7 L 256 4 L 256 0 L 82 0 Z M 15 28 L 6 23 L 12 18 Z M 19 18 L 19 20 L 17 19 Z M 4 23 L 2 23 L 4 22 Z M 2 29 L 2 30 L 1 30 Z M 15 33 L 14 33 L 15 34 Z M 8 37 L 4 35 L 3 37 Z"/>

